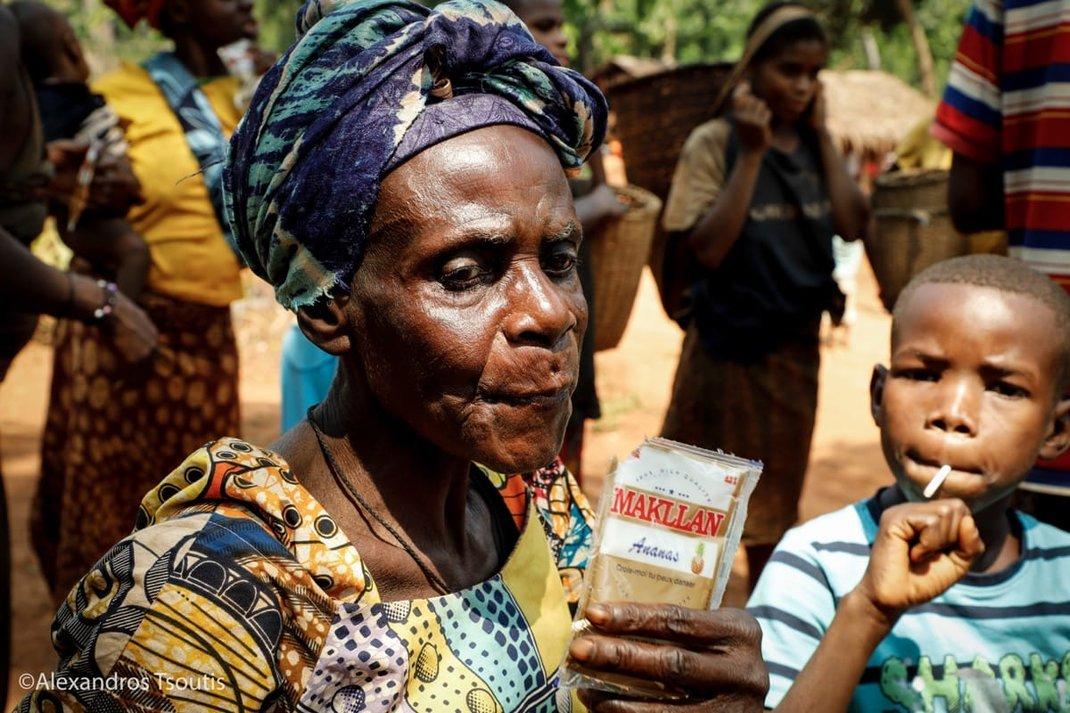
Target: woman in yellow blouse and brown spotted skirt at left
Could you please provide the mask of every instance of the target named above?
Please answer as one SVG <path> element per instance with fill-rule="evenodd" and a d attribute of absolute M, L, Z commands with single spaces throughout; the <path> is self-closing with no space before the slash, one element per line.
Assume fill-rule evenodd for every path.
<path fill-rule="evenodd" d="M 57 601 L 129 531 L 160 464 L 181 462 L 240 425 L 229 305 L 241 297 L 241 264 L 225 239 L 218 185 L 240 113 L 238 82 L 224 76 L 216 50 L 256 34 L 253 3 L 109 4 L 128 25 L 147 19 L 174 42 L 173 52 L 124 64 L 95 87 L 127 124 L 146 199 L 127 221 L 151 254 L 140 302 L 159 345 L 132 369 L 100 328 L 60 330 L 31 525 Z"/>

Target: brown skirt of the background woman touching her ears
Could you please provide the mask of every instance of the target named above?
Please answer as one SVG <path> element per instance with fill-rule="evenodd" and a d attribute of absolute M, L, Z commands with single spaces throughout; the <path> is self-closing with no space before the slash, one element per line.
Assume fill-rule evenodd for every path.
<path fill-rule="evenodd" d="M 798 517 L 817 412 L 821 352 L 793 339 L 755 363 L 713 356 L 692 324 L 661 435 L 765 464 L 750 497 L 745 545 L 775 545 Z"/>

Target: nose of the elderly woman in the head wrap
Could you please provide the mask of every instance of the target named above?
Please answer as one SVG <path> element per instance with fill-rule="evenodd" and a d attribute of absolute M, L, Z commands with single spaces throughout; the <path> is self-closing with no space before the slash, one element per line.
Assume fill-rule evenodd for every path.
<path fill-rule="evenodd" d="M 524 261 L 516 267 L 516 273 L 508 288 L 505 336 L 514 345 L 553 349 L 577 327 L 576 300 L 538 264 Z M 585 313 L 586 303 L 581 300 L 580 304 Z"/>

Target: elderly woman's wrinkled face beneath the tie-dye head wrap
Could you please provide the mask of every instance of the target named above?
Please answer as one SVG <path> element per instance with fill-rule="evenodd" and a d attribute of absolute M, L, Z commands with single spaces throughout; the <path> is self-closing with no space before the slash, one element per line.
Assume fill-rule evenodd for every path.
<path fill-rule="evenodd" d="M 502 472 L 550 462 L 587 307 L 564 171 L 513 126 L 463 134 L 383 182 L 349 320 L 376 399 L 443 451 Z"/>

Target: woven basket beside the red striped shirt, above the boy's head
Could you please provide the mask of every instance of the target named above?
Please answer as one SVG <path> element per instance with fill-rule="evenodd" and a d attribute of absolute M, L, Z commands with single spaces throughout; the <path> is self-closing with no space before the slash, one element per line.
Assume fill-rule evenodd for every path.
<path fill-rule="evenodd" d="M 969 253 L 947 212 L 946 170 L 885 173 L 873 191 L 876 229 L 866 240 L 881 302 L 889 312 L 911 278 L 929 266 Z"/>

